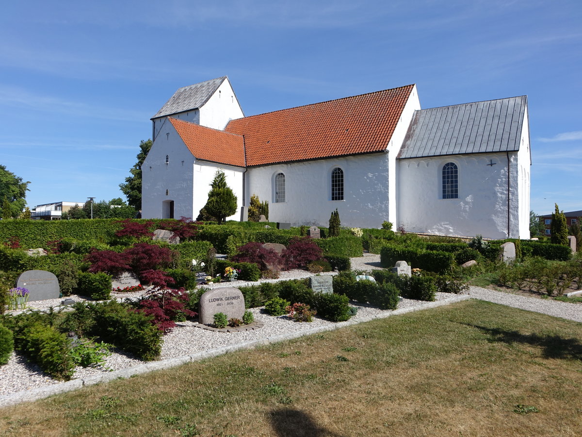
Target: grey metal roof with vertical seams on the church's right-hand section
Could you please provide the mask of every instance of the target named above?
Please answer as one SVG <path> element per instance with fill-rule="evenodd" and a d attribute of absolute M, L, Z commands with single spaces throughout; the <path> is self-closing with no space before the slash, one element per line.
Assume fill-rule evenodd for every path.
<path fill-rule="evenodd" d="M 519 150 L 527 96 L 414 111 L 399 158 Z"/>

